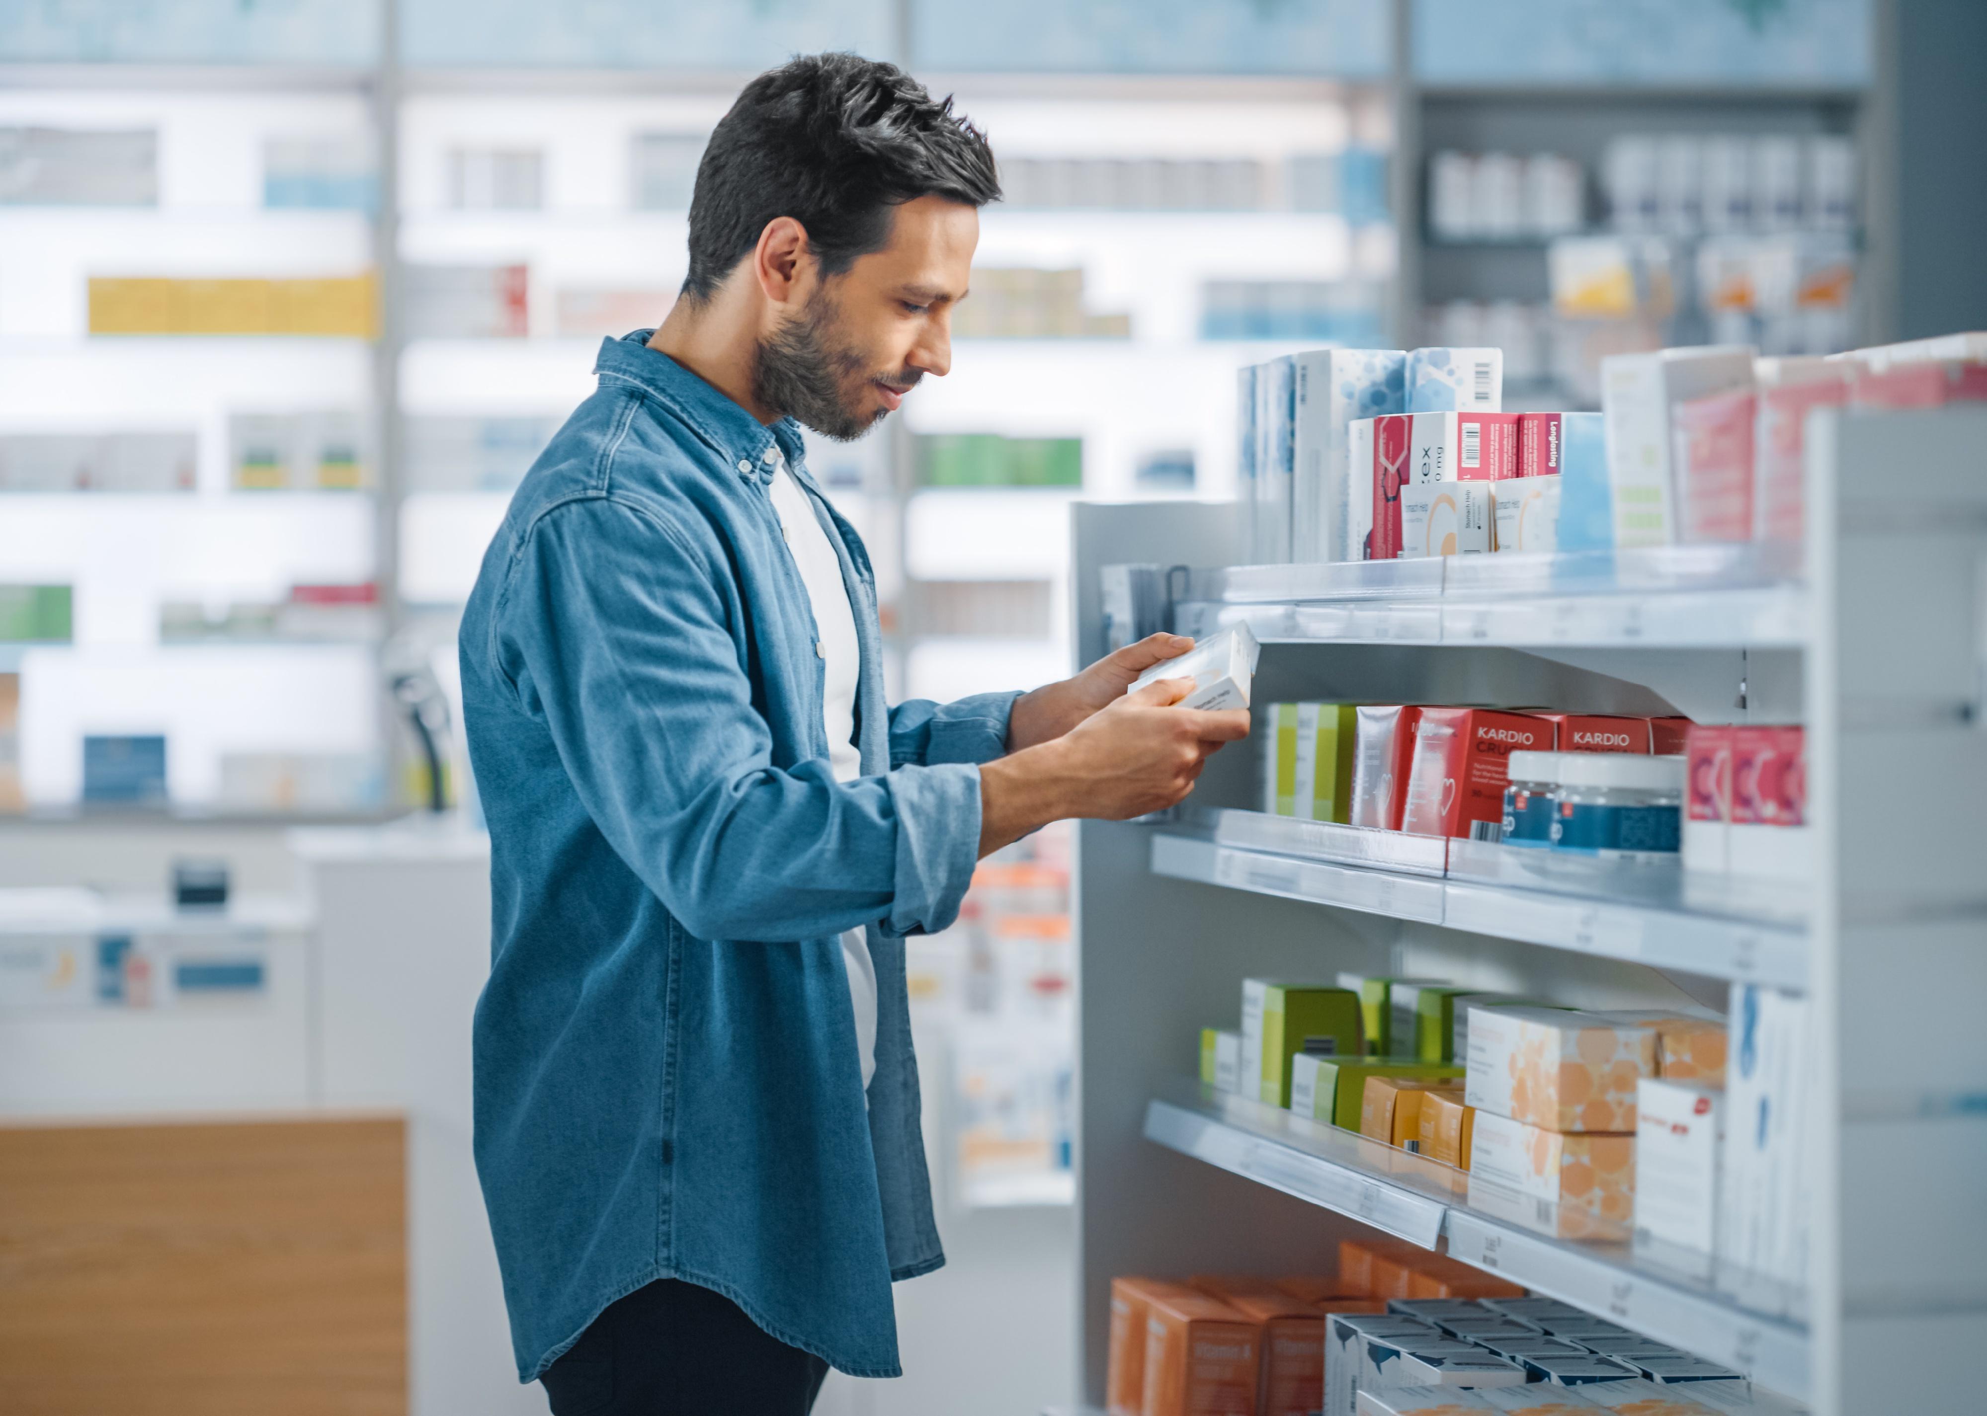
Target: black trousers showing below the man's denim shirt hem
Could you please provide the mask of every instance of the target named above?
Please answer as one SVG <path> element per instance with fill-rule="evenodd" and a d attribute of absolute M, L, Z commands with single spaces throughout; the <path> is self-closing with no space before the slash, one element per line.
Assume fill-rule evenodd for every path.
<path fill-rule="evenodd" d="M 807 1416 L 829 1364 L 678 1279 L 636 1289 L 544 1372 L 552 1416 Z"/>

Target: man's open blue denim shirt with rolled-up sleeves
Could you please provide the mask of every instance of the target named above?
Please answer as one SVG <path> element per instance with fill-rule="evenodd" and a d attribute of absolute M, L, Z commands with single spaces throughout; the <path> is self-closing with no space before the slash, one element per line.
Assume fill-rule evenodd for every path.
<path fill-rule="evenodd" d="M 958 914 L 976 763 L 1005 751 L 1015 695 L 888 709 L 868 556 L 799 427 L 761 425 L 648 338 L 602 344 L 600 387 L 519 487 L 459 639 L 495 935 L 475 1156 L 519 1376 L 656 1279 L 896 1376 L 890 1281 L 944 1263 L 902 939 Z M 775 445 L 856 618 L 848 782 Z M 866 1098 L 839 943 L 864 925 Z"/>

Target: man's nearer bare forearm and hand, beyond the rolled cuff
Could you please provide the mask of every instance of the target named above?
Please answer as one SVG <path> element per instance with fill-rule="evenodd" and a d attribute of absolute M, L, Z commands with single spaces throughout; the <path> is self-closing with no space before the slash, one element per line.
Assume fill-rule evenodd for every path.
<path fill-rule="evenodd" d="M 1065 816 L 1127 820 L 1194 790 L 1222 743 L 1248 737 L 1248 711 L 1172 707 L 1192 679 L 1127 693 L 1063 737 L 980 769 L 980 854 Z"/>

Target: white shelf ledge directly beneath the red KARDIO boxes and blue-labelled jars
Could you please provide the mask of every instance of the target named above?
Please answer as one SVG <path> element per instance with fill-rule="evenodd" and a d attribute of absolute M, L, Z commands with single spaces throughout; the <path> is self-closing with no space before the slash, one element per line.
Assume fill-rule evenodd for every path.
<path fill-rule="evenodd" d="M 1397 848 L 1393 858 L 1379 854 L 1387 848 Z M 1238 810 L 1186 812 L 1154 832 L 1150 866 L 1174 880 L 1572 953 L 1808 987 L 1808 933 L 1792 888 L 1741 888 L 1663 866 L 1562 862 L 1546 852 L 1534 858 L 1480 842 Z"/>

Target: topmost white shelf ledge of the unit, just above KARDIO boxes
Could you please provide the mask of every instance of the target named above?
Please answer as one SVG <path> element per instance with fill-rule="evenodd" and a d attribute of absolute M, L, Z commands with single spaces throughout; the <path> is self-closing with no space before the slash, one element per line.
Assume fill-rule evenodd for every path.
<path fill-rule="evenodd" d="M 1174 576 L 1174 628 L 1248 624 L 1264 643 L 1798 647 L 1798 550 L 1657 546 L 1236 566 Z"/>

